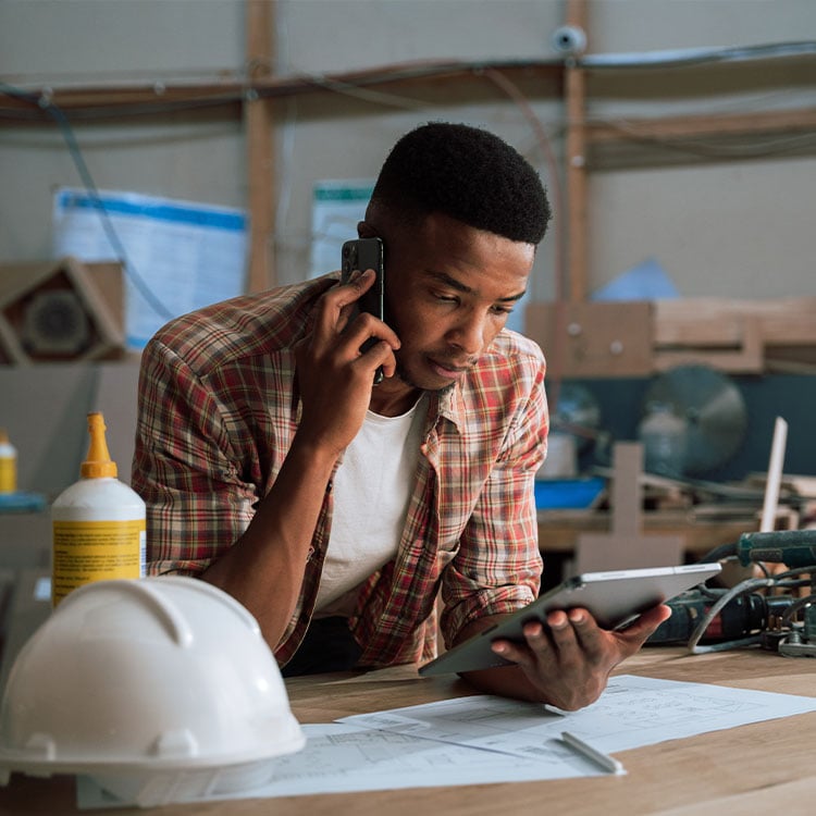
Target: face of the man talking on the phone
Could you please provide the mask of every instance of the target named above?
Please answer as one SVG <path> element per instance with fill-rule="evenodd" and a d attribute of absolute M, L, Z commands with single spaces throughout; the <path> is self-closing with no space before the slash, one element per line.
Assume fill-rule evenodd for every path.
<path fill-rule="evenodd" d="M 405 385 L 440 391 L 461 379 L 505 325 L 528 284 L 532 244 L 433 214 L 383 231 L 387 323 Z M 396 383 L 395 383 L 396 384 Z"/>

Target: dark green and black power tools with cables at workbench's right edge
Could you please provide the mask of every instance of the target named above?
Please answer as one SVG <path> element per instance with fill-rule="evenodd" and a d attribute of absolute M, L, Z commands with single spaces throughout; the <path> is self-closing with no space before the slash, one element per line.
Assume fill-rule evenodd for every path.
<path fill-rule="evenodd" d="M 667 604 L 671 617 L 647 643 L 687 642 L 694 654 L 759 645 L 789 657 L 816 657 L 816 530 L 743 533 L 702 560 L 727 559 L 787 569 L 728 590 L 701 585 L 679 595 Z M 803 588 L 807 594 L 801 595 Z"/>

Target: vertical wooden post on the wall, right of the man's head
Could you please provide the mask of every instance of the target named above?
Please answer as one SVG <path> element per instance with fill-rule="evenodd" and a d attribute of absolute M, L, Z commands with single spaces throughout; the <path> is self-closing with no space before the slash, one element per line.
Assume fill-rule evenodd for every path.
<path fill-rule="evenodd" d="M 586 0 L 567 0 L 566 25 L 586 30 Z M 569 299 L 586 300 L 586 112 L 585 75 L 571 59 L 565 70 L 567 108 L 567 258 Z"/>

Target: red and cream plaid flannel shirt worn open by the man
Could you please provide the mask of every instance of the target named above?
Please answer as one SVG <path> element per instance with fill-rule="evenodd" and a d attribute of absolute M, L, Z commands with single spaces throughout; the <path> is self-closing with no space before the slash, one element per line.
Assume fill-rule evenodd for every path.
<path fill-rule="evenodd" d="M 326 275 L 215 304 L 172 321 L 145 348 L 132 483 L 147 503 L 150 574 L 202 572 L 249 524 L 298 425 L 294 344 L 334 283 Z M 461 383 L 432 396 L 398 554 L 367 581 L 349 620 L 362 665 L 432 657 L 440 588 L 448 644 L 471 620 L 536 596 L 544 372 L 541 349 L 503 331 Z M 313 611 L 332 507 L 330 482 L 275 648 L 281 664 Z"/>

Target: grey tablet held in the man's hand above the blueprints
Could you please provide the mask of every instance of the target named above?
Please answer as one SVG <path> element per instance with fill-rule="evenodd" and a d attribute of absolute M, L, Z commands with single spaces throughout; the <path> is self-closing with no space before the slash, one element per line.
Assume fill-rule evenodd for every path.
<path fill-rule="evenodd" d="M 498 638 L 523 642 L 521 630 L 529 620 L 544 623 L 554 609 L 589 609 L 602 629 L 620 629 L 639 615 L 681 592 L 696 586 L 721 570 L 719 564 L 690 564 L 681 567 L 651 567 L 607 572 L 585 572 L 570 578 L 540 595 L 523 609 L 500 623 L 485 629 L 454 646 L 435 660 L 420 667 L 423 677 L 449 671 L 473 671 L 496 666 L 510 666 L 491 650 Z"/>

